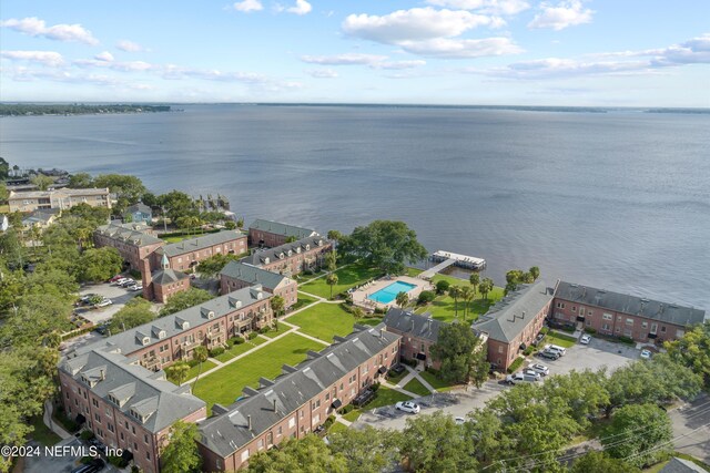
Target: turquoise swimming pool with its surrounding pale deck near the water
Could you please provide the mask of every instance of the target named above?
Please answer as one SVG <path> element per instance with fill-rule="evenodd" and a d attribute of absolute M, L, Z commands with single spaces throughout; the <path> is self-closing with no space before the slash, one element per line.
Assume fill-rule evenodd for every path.
<path fill-rule="evenodd" d="M 355 289 L 352 292 L 353 304 L 372 312 L 376 308 L 386 309 L 396 306 L 397 294 L 407 292 L 409 300 L 414 300 L 423 290 L 432 290 L 433 286 L 419 278 L 398 276 L 383 278 Z"/>

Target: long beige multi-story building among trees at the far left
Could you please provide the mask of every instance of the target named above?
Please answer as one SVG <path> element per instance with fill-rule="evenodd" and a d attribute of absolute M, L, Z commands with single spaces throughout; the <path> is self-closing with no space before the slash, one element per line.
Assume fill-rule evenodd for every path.
<path fill-rule="evenodd" d="M 111 208 L 109 188 L 72 189 L 60 188 L 52 191 L 11 191 L 8 196 L 10 212 L 33 212 L 38 208 L 59 208 L 65 210 L 79 204 L 92 207 Z"/>

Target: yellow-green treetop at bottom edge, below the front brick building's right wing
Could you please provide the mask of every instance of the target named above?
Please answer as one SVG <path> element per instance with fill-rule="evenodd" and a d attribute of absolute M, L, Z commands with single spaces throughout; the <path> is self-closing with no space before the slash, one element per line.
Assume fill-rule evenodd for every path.
<path fill-rule="evenodd" d="M 301 440 L 288 439 L 271 449 L 257 453 L 248 460 L 252 473 L 345 473 L 347 460 L 344 455 L 333 454 L 323 440 L 316 435 L 306 435 Z"/>

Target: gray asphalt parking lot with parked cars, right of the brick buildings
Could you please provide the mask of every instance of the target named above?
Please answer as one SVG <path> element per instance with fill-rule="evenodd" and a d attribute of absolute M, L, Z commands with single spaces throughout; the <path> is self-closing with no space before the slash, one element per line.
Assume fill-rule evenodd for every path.
<path fill-rule="evenodd" d="M 639 350 L 633 347 L 592 338 L 589 345 L 575 345 L 568 348 L 567 353 L 555 361 L 529 357 L 529 361 L 524 367 L 531 362 L 540 362 L 549 367 L 549 376 L 566 374 L 571 370 L 598 370 L 602 367 L 613 371 L 629 361 L 638 359 L 639 353 Z M 466 390 L 452 391 L 452 393 L 419 398 L 416 402 L 420 404 L 422 413 L 430 414 L 440 410 L 453 417 L 466 417 L 474 409 L 484 408 L 488 400 L 506 389 L 509 387 L 503 381 L 490 380 L 480 389 L 469 387 Z M 402 430 L 406 420 L 412 415 L 397 411 L 394 407 L 379 408 L 364 412 L 353 425 L 355 428 L 371 425 L 378 429 Z"/>

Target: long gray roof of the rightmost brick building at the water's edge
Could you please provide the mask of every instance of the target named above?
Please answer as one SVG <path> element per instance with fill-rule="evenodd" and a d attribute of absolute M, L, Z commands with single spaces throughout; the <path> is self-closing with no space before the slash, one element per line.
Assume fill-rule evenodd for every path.
<path fill-rule="evenodd" d="M 616 312 L 630 313 L 679 326 L 702 323 L 706 318 L 704 310 L 692 307 L 649 300 L 628 294 L 612 292 L 566 281 L 557 284 L 555 297 L 584 304 L 585 306 L 600 307 Z"/>

